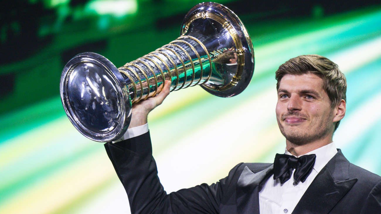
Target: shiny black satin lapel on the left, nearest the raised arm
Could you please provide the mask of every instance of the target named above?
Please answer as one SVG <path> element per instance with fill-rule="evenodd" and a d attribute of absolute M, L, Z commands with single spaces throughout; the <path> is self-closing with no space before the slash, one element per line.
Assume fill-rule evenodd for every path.
<path fill-rule="evenodd" d="M 245 166 L 237 182 L 237 213 L 259 214 L 259 184 L 272 174 L 272 169 L 271 164 L 254 173 Z"/>

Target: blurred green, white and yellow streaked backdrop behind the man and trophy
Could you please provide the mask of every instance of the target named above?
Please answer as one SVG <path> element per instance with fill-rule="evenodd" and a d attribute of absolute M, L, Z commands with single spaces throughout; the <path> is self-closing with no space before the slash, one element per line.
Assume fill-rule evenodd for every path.
<path fill-rule="evenodd" d="M 29 52 L 11 39 L 23 38 L 20 30 L 12 33 L 25 30 L 23 22 L 12 24 L 12 14 L 11 21 L 2 22 L 8 26 L 2 28 L 2 44 L 18 52 L 10 52 L 16 54 L 12 57 L 2 53 L 9 59 L 1 64 L 6 81 L 0 101 L 0 213 L 129 213 L 104 146 L 78 133 L 64 113 L 60 73 L 84 51 L 96 51 L 117 67 L 154 51 L 179 36 L 182 18 L 198 2 L 44 2 L 50 6 L 43 5 L 43 11 L 54 13 L 33 22 L 37 46 L 20 40 Z M 240 162 L 272 162 L 275 153 L 283 153 L 274 72 L 301 54 L 326 56 L 345 73 L 347 112 L 334 142 L 349 161 L 381 175 L 380 5 L 334 13 L 329 5 L 310 5 L 300 12 L 287 5 L 248 2 L 220 2 L 245 8 L 235 13 L 254 45 L 255 72 L 248 88 L 231 98 L 212 96 L 199 86 L 174 91 L 149 116 L 165 190 L 211 184 Z M 251 12 L 257 6 L 263 13 Z"/>

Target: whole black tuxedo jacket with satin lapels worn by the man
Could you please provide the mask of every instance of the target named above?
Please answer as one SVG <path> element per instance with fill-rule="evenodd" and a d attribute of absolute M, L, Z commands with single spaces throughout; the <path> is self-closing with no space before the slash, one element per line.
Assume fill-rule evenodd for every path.
<path fill-rule="evenodd" d="M 258 193 L 272 176 L 272 164 L 240 163 L 216 184 L 167 195 L 157 176 L 149 133 L 106 143 L 105 148 L 133 214 L 259 214 Z M 339 150 L 307 188 L 295 213 L 379 214 L 381 177 L 349 163 Z"/>

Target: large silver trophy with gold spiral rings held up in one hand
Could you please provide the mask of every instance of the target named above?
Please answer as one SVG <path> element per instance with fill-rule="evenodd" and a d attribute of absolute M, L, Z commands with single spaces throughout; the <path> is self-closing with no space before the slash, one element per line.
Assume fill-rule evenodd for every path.
<path fill-rule="evenodd" d="M 220 59 L 234 51 L 237 61 Z M 200 3 L 185 16 L 181 36 L 151 53 L 116 68 L 91 52 L 72 58 L 61 75 L 60 93 L 67 117 L 93 141 L 114 141 L 131 120 L 131 106 L 160 93 L 200 85 L 211 94 L 241 93 L 254 72 L 251 38 L 237 15 L 218 3 Z"/>

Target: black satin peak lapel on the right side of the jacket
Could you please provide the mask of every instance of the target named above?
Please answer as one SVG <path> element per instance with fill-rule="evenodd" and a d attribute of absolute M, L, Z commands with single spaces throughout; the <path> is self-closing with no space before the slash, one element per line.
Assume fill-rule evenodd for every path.
<path fill-rule="evenodd" d="M 357 182 L 349 179 L 349 161 L 339 150 L 319 172 L 292 213 L 326 214 Z"/>

